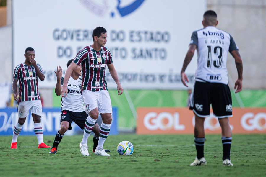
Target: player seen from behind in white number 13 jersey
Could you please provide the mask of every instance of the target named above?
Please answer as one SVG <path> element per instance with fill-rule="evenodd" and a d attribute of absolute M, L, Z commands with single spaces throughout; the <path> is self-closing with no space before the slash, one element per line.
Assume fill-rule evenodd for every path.
<path fill-rule="evenodd" d="M 197 49 L 198 67 L 194 89 L 191 95 L 190 109 L 195 115 L 194 142 L 197 157 L 191 166 L 205 165 L 204 158 L 204 120 L 210 115 L 210 104 L 213 114 L 218 117 L 222 129 L 223 165 L 233 166 L 230 161 L 231 128 L 228 117 L 232 117 L 232 99 L 228 87 L 226 60 L 228 51 L 235 59 L 238 79 L 235 83 L 236 93 L 242 90 L 243 65 L 238 47 L 233 37 L 216 28 L 217 14 L 208 10 L 203 15 L 203 29 L 192 33 L 189 50 L 186 54 L 181 79 L 185 86 L 188 78 L 185 70 Z"/>

